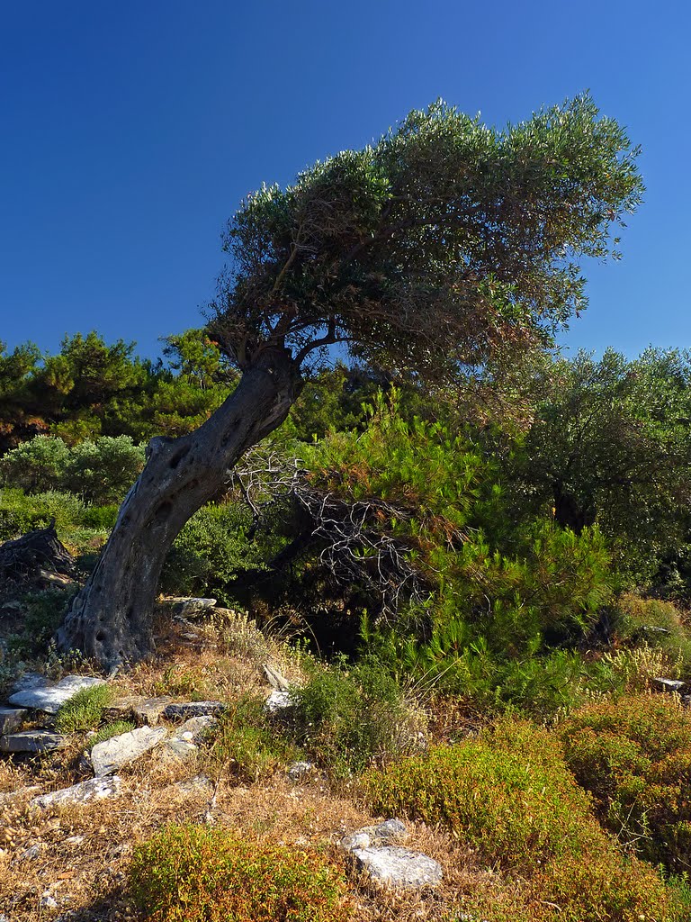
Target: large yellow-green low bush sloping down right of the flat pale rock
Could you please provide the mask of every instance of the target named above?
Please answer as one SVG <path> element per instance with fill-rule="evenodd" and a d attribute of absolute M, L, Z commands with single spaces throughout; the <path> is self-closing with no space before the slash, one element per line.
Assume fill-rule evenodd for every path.
<path fill-rule="evenodd" d="M 549 903 L 569 922 L 670 917 L 660 878 L 603 833 L 558 741 L 543 729 L 504 719 L 454 746 L 370 771 L 363 787 L 373 810 L 441 823 L 527 881 L 529 902 L 543 904 L 531 918 L 551 917 Z"/>

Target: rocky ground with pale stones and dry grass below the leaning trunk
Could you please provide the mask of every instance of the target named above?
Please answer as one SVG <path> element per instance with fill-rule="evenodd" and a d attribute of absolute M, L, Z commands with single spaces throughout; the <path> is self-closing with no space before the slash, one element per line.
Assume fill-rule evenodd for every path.
<path fill-rule="evenodd" d="M 199 614 L 199 612 L 197 612 Z M 208 614 L 208 612 L 206 613 Z M 299 662 L 246 621 L 228 634 L 170 606 L 155 662 L 109 680 L 109 720 L 134 729 L 89 745 L 55 713 L 96 675 L 25 674 L 0 710 L 0 920 L 138 918 L 127 893 L 133 847 L 167 822 L 326 849 L 345 869 L 356 919 L 440 919 L 464 892 L 495 885 L 446 833 L 381 823 L 306 762 L 240 780 L 208 758 L 223 711 L 248 691 L 286 701 Z M 53 667 L 54 677 L 54 667 Z"/>

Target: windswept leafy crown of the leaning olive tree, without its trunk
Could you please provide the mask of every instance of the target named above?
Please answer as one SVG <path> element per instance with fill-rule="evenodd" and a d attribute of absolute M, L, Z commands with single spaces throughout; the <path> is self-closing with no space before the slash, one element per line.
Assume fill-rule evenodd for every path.
<path fill-rule="evenodd" d="M 344 342 L 427 379 L 550 341 L 585 307 L 580 260 L 617 255 L 638 151 L 589 96 L 503 130 L 438 101 L 381 140 L 249 195 L 210 329 L 240 369 Z"/>

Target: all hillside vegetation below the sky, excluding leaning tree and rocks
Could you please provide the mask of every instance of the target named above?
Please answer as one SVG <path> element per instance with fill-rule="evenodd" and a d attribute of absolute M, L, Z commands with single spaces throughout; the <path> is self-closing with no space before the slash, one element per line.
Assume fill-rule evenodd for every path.
<path fill-rule="evenodd" d="M 165 352 L 89 334 L 0 354 L 0 541 L 54 520 L 78 571 L 0 586 L 3 691 L 91 671 L 53 632 L 144 443 L 235 384 L 195 331 Z M 691 918 L 691 357 L 581 353 L 504 384 L 315 375 L 170 553 L 161 592 L 216 614 L 191 628 L 163 606 L 155 659 L 57 716 L 66 749 L 0 762 L 8 917 Z M 283 716 L 268 662 L 290 679 Z M 125 770 L 117 810 L 37 820 L 23 787 L 80 780 L 89 734 L 132 726 L 108 694 L 226 710 L 193 761 Z M 334 848 L 393 816 L 442 864 L 436 890 L 381 891 Z M 72 903 L 41 904 L 59 881 Z"/>

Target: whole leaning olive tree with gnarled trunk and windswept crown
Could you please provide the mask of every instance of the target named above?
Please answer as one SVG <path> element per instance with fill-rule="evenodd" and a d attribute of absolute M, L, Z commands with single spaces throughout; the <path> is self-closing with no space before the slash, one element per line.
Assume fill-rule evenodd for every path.
<path fill-rule="evenodd" d="M 585 304 L 582 257 L 616 254 L 613 228 L 642 193 L 636 153 L 587 96 L 505 129 L 439 101 L 248 196 L 207 327 L 239 384 L 196 431 L 151 440 L 59 645 L 107 668 L 152 652 L 172 541 L 329 346 L 449 383 L 548 344 Z"/>

